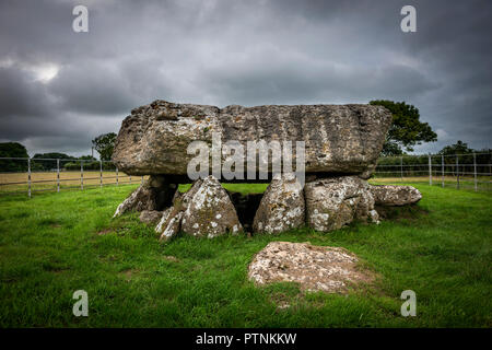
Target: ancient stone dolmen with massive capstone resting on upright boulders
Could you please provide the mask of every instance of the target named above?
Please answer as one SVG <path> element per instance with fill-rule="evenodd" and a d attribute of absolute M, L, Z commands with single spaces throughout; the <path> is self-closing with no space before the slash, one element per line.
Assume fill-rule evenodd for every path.
<path fill-rule="evenodd" d="M 362 104 L 219 108 L 154 101 L 131 110 L 119 130 L 113 162 L 148 179 L 114 217 L 138 211 L 164 241 L 179 232 L 215 237 L 378 223 L 377 206 L 422 198 L 411 186 L 367 183 L 390 124 L 389 110 Z M 262 195 L 241 195 L 221 183 L 269 185 Z"/>

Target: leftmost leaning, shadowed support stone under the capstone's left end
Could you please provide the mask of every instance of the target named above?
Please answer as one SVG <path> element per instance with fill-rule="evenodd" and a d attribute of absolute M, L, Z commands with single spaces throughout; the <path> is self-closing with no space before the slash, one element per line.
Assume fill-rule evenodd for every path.
<path fill-rule="evenodd" d="M 176 185 L 163 176 L 151 176 L 118 206 L 113 218 L 127 211 L 163 210 L 171 205 Z"/>

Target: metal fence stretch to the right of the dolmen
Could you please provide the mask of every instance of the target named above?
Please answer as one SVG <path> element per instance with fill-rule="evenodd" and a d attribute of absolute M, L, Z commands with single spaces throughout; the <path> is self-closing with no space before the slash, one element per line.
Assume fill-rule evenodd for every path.
<path fill-rule="evenodd" d="M 378 160 L 374 180 L 492 190 L 492 153 L 382 158 Z"/>

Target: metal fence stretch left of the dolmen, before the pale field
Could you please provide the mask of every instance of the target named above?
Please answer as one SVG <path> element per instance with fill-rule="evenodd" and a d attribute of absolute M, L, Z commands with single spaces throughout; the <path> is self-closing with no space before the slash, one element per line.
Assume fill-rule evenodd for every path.
<path fill-rule="evenodd" d="M 74 159 L 0 158 L 0 195 L 86 189 L 143 183 L 112 162 Z"/>

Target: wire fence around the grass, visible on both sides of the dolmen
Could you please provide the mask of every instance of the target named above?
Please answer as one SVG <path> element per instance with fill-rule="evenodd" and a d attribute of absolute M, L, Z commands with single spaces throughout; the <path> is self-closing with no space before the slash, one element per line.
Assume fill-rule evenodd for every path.
<path fill-rule="evenodd" d="M 119 172 L 109 161 L 0 158 L 0 195 L 27 194 L 32 197 L 40 191 L 142 184 L 144 178 Z M 373 180 L 492 190 L 492 153 L 380 158 Z"/>

